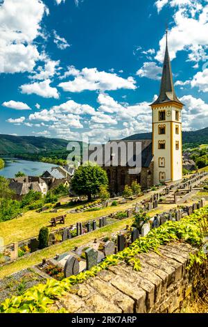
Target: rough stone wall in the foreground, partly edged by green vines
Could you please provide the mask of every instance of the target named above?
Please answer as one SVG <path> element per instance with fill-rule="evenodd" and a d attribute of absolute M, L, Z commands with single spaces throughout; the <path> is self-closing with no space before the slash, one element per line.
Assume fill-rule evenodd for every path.
<path fill-rule="evenodd" d="M 171 243 L 156 253 L 139 255 L 141 271 L 125 263 L 101 271 L 55 303 L 71 313 L 172 313 L 189 298 L 194 276 L 186 267 L 189 244 Z"/>

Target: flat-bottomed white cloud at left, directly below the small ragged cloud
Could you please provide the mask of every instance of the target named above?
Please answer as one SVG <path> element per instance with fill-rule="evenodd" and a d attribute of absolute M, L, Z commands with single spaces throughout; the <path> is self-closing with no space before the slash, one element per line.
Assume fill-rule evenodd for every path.
<path fill-rule="evenodd" d="M 40 83 L 31 83 L 31 84 L 24 84 L 20 86 L 21 93 L 26 94 L 36 94 L 40 95 L 41 97 L 54 97 L 55 99 L 59 98 L 57 88 L 52 88 L 50 86 L 51 80 L 46 79 L 46 81 L 42 81 Z"/>

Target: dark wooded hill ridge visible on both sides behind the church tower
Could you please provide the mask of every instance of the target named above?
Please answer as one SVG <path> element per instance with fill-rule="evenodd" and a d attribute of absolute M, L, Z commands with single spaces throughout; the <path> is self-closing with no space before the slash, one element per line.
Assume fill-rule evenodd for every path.
<path fill-rule="evenodd" d="M 141 133 L 135 134 L 132 136 L 128 136 L 127 138 L 123 138 L 123 140 L 144 140 L 152 138 L 152 133 Z M 208 143 L 208 127 L 205 129 L 200 129 L 198 131 L 183 131 L 182 133 L 183 143 L 184 145 L 189 143 L 193 144 L 207 144 Z"/>

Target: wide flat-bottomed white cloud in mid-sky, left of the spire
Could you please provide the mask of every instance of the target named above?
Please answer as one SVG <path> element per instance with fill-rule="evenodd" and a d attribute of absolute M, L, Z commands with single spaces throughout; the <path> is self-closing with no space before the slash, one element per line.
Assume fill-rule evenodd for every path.
<path fill-rule="evenodd" d="M 83 70 L 76 70 L 74 67 L 69 67 L 68 76 L 74 76 L 73 81 L 60 83 L 59 86 L 64 91 L 68 92 L 82 92 L 83 90 L 118 90 L 120 88 L 127 88 L 135 90 L 135 79 L 128 77 L 123 79 L 117 74 L 108 72 L 99 72 L 97 68 L 83 68 Z"/>

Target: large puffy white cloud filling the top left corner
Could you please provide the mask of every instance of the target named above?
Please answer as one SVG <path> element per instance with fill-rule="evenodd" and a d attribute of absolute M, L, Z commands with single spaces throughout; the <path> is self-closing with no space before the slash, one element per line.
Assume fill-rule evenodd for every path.
<path fill-rule="evenodd" d="M 0 72 L 31 72 L 40 59 L 40 23 L 49 13 L 40 0 L 4 0 L 0 7 Z"/>

